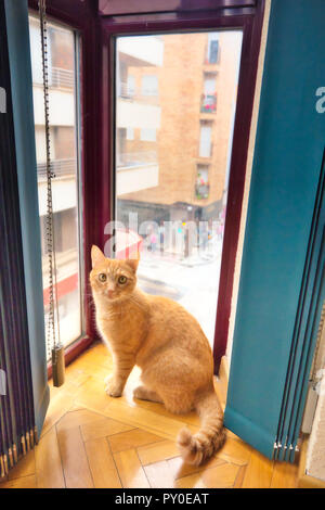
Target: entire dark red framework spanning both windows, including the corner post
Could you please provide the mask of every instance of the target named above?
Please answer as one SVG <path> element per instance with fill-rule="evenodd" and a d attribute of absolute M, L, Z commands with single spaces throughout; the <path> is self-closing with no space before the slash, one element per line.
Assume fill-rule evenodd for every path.
<path fill-rule="evenodd" d="M 38 0 L 28 0 L 37 11 Z M 243 50 L 231 161 L 214 336 L 219 370 L 225 353 L 235 257 L 245 183 L 249 128 L 263 21 L 264 0 L 48 0 L 48 15 L 77 29 L 81 37 L 81 143 L 83 220 L 84 336 L 66 352 L 66 362 L 96 339 L 88 275 L 90 247 L 105 243 L 105 225 L 114 218 L 114 40 L 119 34 L 155 34 L 242 28 Z M 100 7 L 100 12 L 99 12 Z M 115 9 L 115 11 L 114 11 Z M 165 11 L 165 12 L 164 12 Z M 168 12 L 166 12 L 168 11 Z M 125 15 L 116 15 L 125 13 Z"/>

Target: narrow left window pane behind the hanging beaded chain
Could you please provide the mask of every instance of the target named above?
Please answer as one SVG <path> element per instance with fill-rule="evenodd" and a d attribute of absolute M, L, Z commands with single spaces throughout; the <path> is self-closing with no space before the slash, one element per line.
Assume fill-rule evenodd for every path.
<path fill-rule="evenodd" d="M 47 247 L 46 130 L 39 21 L 29 16 L 35 139 L 41 227 L 43 298 L 49 311 Z M 48 22 L 49 109 L 53 224 L 57 267 L 61 341 L 66 346 L 81 334 L 78 163 L 76 130 L 75 33 Z M 48 355 L 50 355 L 49 339 Z"/>

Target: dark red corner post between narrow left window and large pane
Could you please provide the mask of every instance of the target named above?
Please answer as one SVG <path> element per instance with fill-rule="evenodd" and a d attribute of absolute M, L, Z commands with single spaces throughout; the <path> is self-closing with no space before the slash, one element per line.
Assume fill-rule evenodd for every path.
<path fill-rule="evenodd" d="M 29 9 L 38 13 L 38 0 L 28 0 Z M 96 340 L 98 333 L 93 320 L 92 302 L 88 285 L 90 266 L 90 248 L 94 243 L 100 244 L 102 219 L 100 218 L 102 190 L 99 160 L 99 113 L 100 113 L 100 37 L 96 2 L 87 0 L 48 0 L 47 15 L 52 21 L 63 23 L 69 28 L 78 30 L 80 36 L 80 128 L 81 128 L 81 189 L 82 189 L 82 227 L 80 254 L 83 258 L 84 289 L 81 289 L 84 331 L 80 339 L 65 349 L 65 362 L 68 365 L 82 350 Z M 96 208 L 95 208 L 96 206 Z M 94 211 L 95 208 L 95 211 Z M 52 375 L 51 365 L 48 367 L 49 378 Z"/>

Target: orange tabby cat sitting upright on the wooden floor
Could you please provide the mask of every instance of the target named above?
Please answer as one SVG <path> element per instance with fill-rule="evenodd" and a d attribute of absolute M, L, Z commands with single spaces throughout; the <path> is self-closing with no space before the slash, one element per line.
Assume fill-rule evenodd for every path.
<path fill-rule="evenodd" d="M 136 288 L 139 260 L 105 258 L 92 246 L 90 282 L 96 323 L 114 358 L 106 392 L 119 397 L 138 365 L 143 385 L 134 397 L 164 403 L 176 413 L 195 409 L 202 429 L 182 429 L 178 444 L 183 459 L 199 464 L 224 443 L 222 411 L 213 388 L 213 359 L 198 322 L 181 305 Z"/>

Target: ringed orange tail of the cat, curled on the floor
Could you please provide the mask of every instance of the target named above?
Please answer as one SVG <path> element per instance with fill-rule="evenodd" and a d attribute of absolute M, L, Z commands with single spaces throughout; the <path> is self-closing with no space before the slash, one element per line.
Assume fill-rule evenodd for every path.
<path fill-rule="evenodd" d="M 178 436 L 178 446 L 185 462 L 199 466 L 223 446 L 225 430 L 223 413 L 213 390 L 196 403 L 195 410 L 202 420 L 200 430 L 192 435 L 188 429 L 182 429 Z"/>

